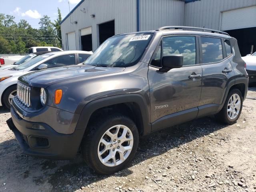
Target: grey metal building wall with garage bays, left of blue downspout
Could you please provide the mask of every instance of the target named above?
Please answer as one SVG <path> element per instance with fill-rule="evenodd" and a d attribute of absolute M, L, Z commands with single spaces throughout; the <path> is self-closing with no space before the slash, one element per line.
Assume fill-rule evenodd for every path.
<path fill-rule="evenodd" d="M 91 15 L 95 17 L 92 18 Z M 71 23 L 70 23 L 71 18 Z M 115 20 L 115 34 L 136 31 L 136 0 L 84 0 L 61 24 L 62 44 L 66 47 L 65 35 L 76 32 L 76 50 L 80 50 L 80 31 L 92 27 L 92 49 L 98 47 L 98 24 Z M 77 24 L 73 22 L 77 21 Z"/>

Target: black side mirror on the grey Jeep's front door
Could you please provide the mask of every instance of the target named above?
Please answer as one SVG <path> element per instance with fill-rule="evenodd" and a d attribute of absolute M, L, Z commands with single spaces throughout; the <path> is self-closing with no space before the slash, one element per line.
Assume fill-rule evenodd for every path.
<path fill-rule="evenodd" d="M 181 68 L 183 66 L 183 55 L 168 55 L 162 57 L 162 68 L 160 72 L 168 72 L 172 68 Z"/>

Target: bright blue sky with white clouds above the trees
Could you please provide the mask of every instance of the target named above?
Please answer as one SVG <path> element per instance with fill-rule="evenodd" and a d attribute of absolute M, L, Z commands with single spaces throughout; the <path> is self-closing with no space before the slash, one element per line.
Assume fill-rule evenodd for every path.
<path fill-rule="evenodd" d="M 43 15 L 52 21 L 57 19 L 58 8 L 62 19 L 80 2 L 80 0 L 0 0 L 0 13 L 15 16 L 15 22 L 25 19 L 33 28 L 39 28 L 39 21 Z"/>

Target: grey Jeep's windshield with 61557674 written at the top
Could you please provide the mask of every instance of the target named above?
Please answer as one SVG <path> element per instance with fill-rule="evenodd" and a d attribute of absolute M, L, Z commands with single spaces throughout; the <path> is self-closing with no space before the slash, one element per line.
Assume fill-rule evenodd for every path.
<path fill-rule="evenodd" d="M 107 39 L 83 64 L 129 67 L 139 62 L 153 34 L 128 34 Z"/>

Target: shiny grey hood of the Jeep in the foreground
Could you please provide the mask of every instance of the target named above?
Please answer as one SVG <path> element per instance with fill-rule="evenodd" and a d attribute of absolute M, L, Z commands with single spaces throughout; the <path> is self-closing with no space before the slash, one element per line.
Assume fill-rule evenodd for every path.
<path fill-rule="evenodd" d="M 46 88 L 52 84 L 72 80 L 75 78 L 87 78 L 90 76 L 122 72 L 124 68 L 106 68 L 95 66 L 66 66 L 31 72 L 20 76 L 18 80 L 30 86 Z"/>

